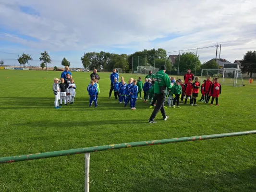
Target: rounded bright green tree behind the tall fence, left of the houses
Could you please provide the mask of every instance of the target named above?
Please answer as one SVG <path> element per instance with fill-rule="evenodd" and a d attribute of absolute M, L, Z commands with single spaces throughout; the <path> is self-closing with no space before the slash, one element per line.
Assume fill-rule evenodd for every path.
<path fill-rule="evenodd" d="M 174 67 L 176 69 L 179 68 L 179 71 L 186 71 L 187 69 L 191 69 L 191 71 L 195 71 L 195 60 L 196 60 L 196 69 L 199 70 L 201 68 L 201 62 L 199 60 L 199 56 L 197 56 L 197 59 L 196 59 L 195 53 L 192 53 L 192 52 L 186 52 L 180 56 L 180 66 L 178 66 L 179 57 L 177 57 L 175 59 Z"/>

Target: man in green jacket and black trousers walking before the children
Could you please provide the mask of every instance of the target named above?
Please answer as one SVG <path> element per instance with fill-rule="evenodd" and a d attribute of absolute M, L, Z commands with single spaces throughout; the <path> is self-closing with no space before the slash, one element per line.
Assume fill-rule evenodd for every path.
<path fill-rule="evenodd" d="M 157 99 L 157 105 L 148 120 L 149 123 L 156 123 L 154 119 L 157 116 L 159 110 L 161 111 L 164 120 L 167 120 L 169 118 L 165 114 L 164 101 L 165 101 L 166 89 L 171 87 L 171 81 L 169 76 L 165 73 L 165 71 L 166 71 L 166 66 L 162 65 L 160 67 L 160 71 L 158 71 L 154 75 L 154 78 L 155 78 L 154 94 Z"/>

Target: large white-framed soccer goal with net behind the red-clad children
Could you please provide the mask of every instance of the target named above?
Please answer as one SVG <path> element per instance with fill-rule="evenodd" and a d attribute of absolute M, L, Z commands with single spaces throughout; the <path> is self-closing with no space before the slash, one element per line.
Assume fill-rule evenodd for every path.
<path fill-rule="evenodd" d="M 220 84 L 232 85 L 234 87 L 244 86 L 241 69 L 202 69 L 201 84 L 208 75 L 210 75 L 211 78 L 218 77 Z"/>

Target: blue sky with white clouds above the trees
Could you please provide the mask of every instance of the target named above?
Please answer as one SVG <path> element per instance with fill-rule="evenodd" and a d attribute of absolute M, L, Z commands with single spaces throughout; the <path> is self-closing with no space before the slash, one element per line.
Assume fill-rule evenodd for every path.
<path fill-rule="evenodd" d="M 65 57 L 71 67 L 82 67 L 80 58 L 92 51 L 177 55 L 221 44 L 220 58 L 233 62 L 256 50 L 256 0 L 0 0 L 0 18 L 7 65 L 19 65 L 23 53 L 40 65 L 44 50 L 51 66 Z M 201 62 L 215 54 L 215 47 L 198 49 Z"/>

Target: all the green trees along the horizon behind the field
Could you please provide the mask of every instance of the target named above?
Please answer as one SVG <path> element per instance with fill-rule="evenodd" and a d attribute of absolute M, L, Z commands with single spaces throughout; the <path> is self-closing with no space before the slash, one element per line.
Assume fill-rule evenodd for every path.
<path fill-rule="evenodd" d="M 51 59 L 47 51 L 40 53 L 39 60 L 41 61 L 40 67 L 46 68 L 47 64 L 51 64 Z M 33 60 L 31 55 L 23 53 L 22 56 L 18 56 L 18 62 L 25 67 L 25 64 Z M 121 68 L 123 71 L 136 71 L 138 66 L 153 66 L 159 68 L 161 65 L 166 65 L 168 71 L 186 71 L 191 69 L 192 71 L 200 69 L 218 69 L 219 65 L 215 60 L 210 60 L 201 64 L 199 55 L 196 56 L 193 52 L 186 52 L 175 58 L 174 65 L 168 60 L 167 52 L 163 48 L 158 49 L 144 49 L 143 51 L 136 51 L 133 54 L 116 54 L 100 51 L 87 52 L 81 57 L 81 62 L 85 69 L 106 69 L 112 70 L 113 68 Z M 196 65 L 195 65 L 196 63 Z M 4 61 L 0 60 L 0 65 L 3 65 Z M 61 61 L 62 66 L 70 66 L 71 63 L 65 57 Z M 242 72 L 250 73 L 252 77 L 253 73 L 256 73 L 256 51 L 247 51 L 242 60 Z M 55 66 L 54 69 L 57 69 Z"/>

